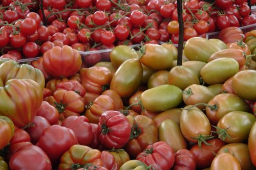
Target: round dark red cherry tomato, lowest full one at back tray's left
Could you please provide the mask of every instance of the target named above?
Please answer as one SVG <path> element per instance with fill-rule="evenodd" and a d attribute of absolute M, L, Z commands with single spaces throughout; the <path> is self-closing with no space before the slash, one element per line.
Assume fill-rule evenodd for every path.
<path fill-rule="evenodd" d="M 22 47 L 22 52 L 26 58 L 34 58 L 39 54 L 39 47 L 35 42 L 28 42 Z"/>

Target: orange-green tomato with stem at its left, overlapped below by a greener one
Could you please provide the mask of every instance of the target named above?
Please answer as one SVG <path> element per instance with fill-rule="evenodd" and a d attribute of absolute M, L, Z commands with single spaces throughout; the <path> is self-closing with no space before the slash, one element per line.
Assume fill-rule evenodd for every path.
<path fill-rule="evenodd" d="M 206 107 L 206 115 L 212 125 L 217 125 L 219 120 L 231 111 L 249 112 L 247 103 L 236 94 L 223 93 L 212 98 Z"/>

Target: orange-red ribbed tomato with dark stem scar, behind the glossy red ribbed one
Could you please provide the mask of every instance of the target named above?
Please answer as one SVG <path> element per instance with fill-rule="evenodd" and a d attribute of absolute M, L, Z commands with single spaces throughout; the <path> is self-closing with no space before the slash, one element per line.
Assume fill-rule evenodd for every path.
<path fill-rule="evenodd" d="M 136 158 L 147 145 L 158 141 L 157 128 L 153 120 L 147 116 L 128 115 L 127 118 L 132 126 L 132 132 L 124 148 L 131 158 Z"/>

